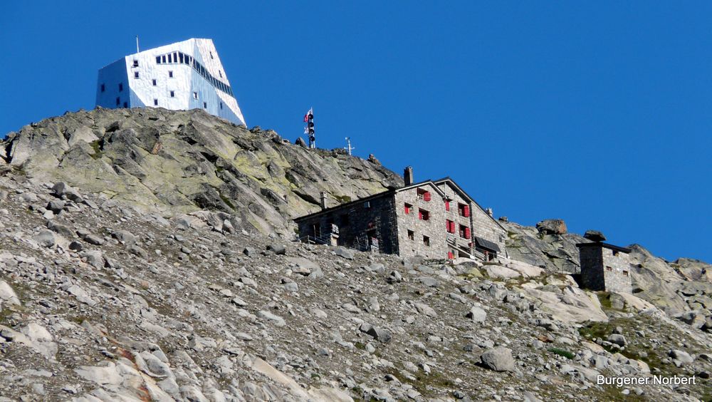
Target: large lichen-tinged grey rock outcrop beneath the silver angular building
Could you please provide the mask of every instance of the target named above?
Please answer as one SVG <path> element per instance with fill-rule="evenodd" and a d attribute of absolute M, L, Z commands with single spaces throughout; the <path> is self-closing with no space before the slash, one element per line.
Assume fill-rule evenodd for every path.
<path fill-rule="evenodd" d="M 66 113 L 10 133 L 2 149 L 4 162 L 35 182 L 162 215 L 219 210 L 264 234 L 293 233 L 291 219 L 318 210 L 320 192 L 340 202 L 402 185 L 376 160 L 308 150 L 199 109 Z"/>

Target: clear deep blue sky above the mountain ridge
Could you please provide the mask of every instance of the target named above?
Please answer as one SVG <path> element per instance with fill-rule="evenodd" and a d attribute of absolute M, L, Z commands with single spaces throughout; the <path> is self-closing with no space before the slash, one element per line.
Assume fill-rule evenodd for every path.
<path fill-rule="evenodd" d="M 349 136 L 396 172 L 454 177 L 496 216 L 712 262 L 712 3 L 0 7 L 1 133 L 93 108 L 98 68 L 137 34 L 213 38 L 250 126 L 295 140 L 313 106 L 322 148 Z"/>

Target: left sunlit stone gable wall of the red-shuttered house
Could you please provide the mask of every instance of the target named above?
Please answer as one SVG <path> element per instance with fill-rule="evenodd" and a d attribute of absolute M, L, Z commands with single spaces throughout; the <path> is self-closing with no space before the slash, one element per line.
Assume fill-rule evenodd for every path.
<path fill-rule="evenodd" d="M 411 257 L 419 255 L 425 258 L 446 258 L 449 247 L 446 242 L 445 205 L 434 185 L 422 186 L 431 193 L 431 200 L 425 201 L 418 196 L 418 188 L 396 192 L 395 211 L 398 220 L 397 242 L 399 255 Z M 405 203 L 412 205 L 409 214 L 405 213 Z M 429 220 L 421 220 L 418 210 L 429 212 Z M 413 232 L 409 238 L 408 231 Z M 429 237 L 430 245 L 424 244 L 423 237 Z"/>

